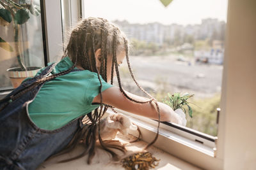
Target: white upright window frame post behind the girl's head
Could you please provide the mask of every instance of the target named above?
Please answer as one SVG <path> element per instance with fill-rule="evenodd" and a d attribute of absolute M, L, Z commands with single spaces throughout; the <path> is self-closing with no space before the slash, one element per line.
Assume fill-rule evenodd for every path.
<path fill-rule="evenodd" d="M 81 0 L 41 0 L 40 3 L 44 3 L 47 60 L 56 62 L 67 45 L 68 32 L 81 18 Z"/>

